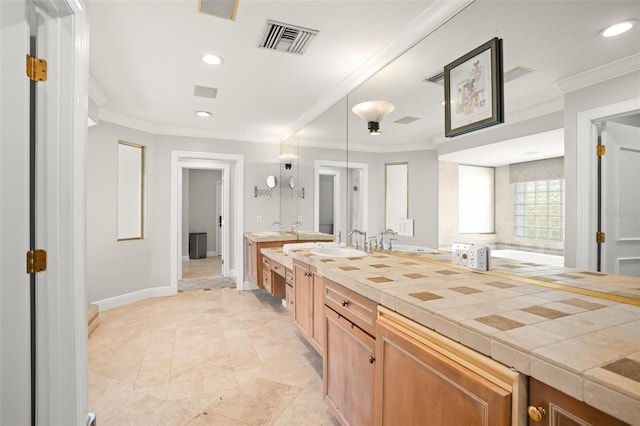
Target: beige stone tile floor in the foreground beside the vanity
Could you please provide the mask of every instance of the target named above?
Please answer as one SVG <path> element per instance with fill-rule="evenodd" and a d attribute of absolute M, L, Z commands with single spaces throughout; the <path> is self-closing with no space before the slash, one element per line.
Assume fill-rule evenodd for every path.
<path fill-rule="evenodd" d="M 262 290 L 186 291 L 100 313 L 89 409 L 106 425 L 337 425 L 322 359 Z"/>

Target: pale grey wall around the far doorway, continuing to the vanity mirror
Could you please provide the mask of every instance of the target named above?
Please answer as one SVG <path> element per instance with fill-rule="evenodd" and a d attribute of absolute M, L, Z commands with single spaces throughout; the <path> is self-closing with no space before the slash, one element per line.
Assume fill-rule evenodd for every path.
<path fill-rule="evenodd" d="M 116 173 L 118 140 L 146 146 L 145 238 L 116 241 Z M 274 144 L 151 135 L 101 121 L 89 129 L 87 150 L 87 294 L 99 301 L 170 285 L 171 151 L 216 152 L 245 156 L 244 218 L 228 218 L 233 229 L 244 220 L 246 231 L 271 229 L 279 218 L 278 197 L 254 198 L 254 185 L 264 187 L 278 173 L 279 146 Z M 269 160 L 272 159 L 270 162 Z M 231 170 L 233 176 L 234 171 Z M 233 183 L 230 183 L 233 187 Z M 231 193 L 231 204 L 234 203 Z M 262 223 L 256 217 L 262 216 Z M 230 244 L 233 255 L 235 241 Z M 229 259 L 230 268 L 236 259 Z M 117 267 L 115 267 L 117 265 Z"/>

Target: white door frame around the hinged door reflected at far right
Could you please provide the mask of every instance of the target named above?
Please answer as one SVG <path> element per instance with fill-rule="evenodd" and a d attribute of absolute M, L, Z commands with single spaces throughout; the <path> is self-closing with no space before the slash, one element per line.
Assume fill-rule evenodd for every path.
<path fill-rule="evenodd" d="M 576 265 L 596 269 L 597 231 L 597 121 L 640 110 L 640 98 L 607 105 L 577 114 L 576 120 Z"/>

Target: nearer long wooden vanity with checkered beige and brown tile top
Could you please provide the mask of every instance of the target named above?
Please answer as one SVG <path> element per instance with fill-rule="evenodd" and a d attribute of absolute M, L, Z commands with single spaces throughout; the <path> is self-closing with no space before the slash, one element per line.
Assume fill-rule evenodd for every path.
<path fill-rule="evenodd" d="M 294 319 L 343 424 L 640 425 L 640 307 L 552 282 L 637 279 L 547 267 L 537 281 L 532 265 L 479 273 L 437 254 L 286 257 Z M 503 272 L 518 268 L 528 277 Z"/>

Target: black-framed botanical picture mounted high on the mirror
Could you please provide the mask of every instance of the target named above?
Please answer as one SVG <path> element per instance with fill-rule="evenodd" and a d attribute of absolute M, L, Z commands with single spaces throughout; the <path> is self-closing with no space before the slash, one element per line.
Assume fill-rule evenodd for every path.
<path fill-rule="evenodd" d="M 444 92 L 445 137 L 504 123 L 502 39 L 445 65 Z"/>

